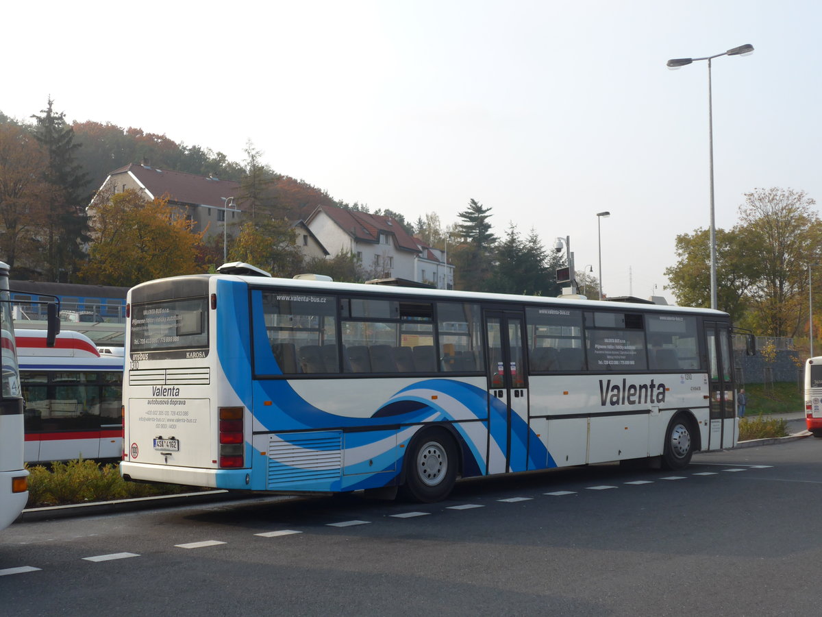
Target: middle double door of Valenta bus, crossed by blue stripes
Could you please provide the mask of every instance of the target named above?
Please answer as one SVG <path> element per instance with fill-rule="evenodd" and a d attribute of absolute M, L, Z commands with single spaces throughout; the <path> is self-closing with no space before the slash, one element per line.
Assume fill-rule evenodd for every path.
<path fill-rule="evenodd" d="M 488 473 L 528 469 L 528 372 L 522 313 L 487 311 Z"/>

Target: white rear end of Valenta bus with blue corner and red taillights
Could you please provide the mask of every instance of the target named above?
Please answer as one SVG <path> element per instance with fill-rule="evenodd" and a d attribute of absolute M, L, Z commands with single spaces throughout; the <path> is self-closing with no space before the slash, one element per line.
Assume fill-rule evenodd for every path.
<path fill-rule="evenodd" d="M 217 306 L 219 285 L 220 306 Z M 178 276 L 128 292 L 123 377 L 126 480 L 250 488 L 247 284 Z M 217 314 L 234 334 L 217 336 Z M 228 327 L 228 326 L 227 326 Z M 247 333 L 246 333 L 247 335 Z M 245 399 L 245 402 L 244 402 Z"/>

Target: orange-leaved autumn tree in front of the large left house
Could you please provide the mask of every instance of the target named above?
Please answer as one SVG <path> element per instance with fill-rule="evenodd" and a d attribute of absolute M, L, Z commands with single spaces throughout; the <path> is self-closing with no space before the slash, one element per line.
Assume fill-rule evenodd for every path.
<path fill-rule="evenodd" d="M 202 233 L 193 225 L 168 199 L 147 202 L 133 190 L 117 193 L 91 215 L 94 240 L 80 276 L 96 285 L 132 286 L 194 274 Z"/>

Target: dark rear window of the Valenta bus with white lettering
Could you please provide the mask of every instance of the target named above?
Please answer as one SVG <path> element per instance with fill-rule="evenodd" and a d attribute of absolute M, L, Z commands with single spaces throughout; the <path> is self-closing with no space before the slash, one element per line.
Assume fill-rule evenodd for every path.
<path fill-rule="evenodd" d="M 208 299 L 132 306 L 132 352 L 208 347 Z"/>

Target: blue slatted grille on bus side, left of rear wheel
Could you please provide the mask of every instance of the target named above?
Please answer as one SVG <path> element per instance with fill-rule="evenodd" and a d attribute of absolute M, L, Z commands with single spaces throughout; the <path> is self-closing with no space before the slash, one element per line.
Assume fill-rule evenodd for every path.
<path fill-rule="evenodd" d="M 340 431 L 272 435 L 268 446 L 268 487 L 310 490 L 317 481 L 339 479 L 343 464 Z"/>

